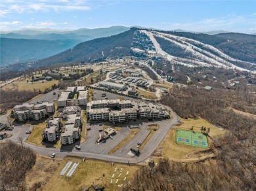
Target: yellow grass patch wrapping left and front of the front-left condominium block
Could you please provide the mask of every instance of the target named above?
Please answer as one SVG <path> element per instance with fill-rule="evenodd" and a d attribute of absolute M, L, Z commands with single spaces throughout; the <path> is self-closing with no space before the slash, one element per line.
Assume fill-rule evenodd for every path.
<path fill-rule="evenodd" d="M 60 148 L 60 140 L 57 141 L 56 144 L 51 144 L 51 143 L 43 143 L 43 137 L 42 137 L 42 132 L 45 130 L 47 121 L 45 120 L 44 122 L 41 122 L 39 124 L 33 125 L 33 130 L 32 133 L 28 136 L 28 139 L 26 140 L 27 143 L 31 143 L 32 145 L 37 145 L 39 147 L 56 147 Z"/>

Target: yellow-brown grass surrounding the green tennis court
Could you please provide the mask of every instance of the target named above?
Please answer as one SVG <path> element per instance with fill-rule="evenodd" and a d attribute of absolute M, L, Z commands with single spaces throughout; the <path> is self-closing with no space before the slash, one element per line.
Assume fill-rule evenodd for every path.
<path fill-rule="evenodd" d="M 225 133 L 225 131 L 220 130 L 219 128 L 209 124 L 206 120 L 202 118 L 199 119 L 181 119 L 181 125 L 177 126 L 179 129 L 189 130 L 190 128 L 194 128 L 194 131 L 200 132 L 200 127 L 205 126 L 206 128 L 210 128 L 209 135 L 211 137 L 220 136 Z M 175 133 L 176 130 L 169 130 L 165 139 L 162 141 L 160 146 L 154 152 L 155 156 L 163 156 L 171 159 L 182 159 L 186 158 L 188 154 L 193 152 L 202 152 L 207 150 L 207 148 L 199 148 L 199 147 L 191 147 L 187 145 L 178 145 L 175 141 Z M 211 139 L 208 139 L 208 143 L 211 143 Z"/>

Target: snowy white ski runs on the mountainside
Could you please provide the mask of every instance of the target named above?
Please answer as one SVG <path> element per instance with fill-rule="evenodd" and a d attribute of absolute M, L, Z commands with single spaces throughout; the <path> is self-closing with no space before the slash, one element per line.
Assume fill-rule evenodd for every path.
<path fill-rule="evenodd" d="M 188 67 L 198 67 L 198 66 L 215 66 L 215 67 L 223 67 L 226 69 L 238 69 L 240 71 L 249 71 L 256 73 L 256 71 L 250 71 L 248 69 L 244 69 L 242 67 L 238 67 L 234 65 L 230 61 L 236 61 L 241 63 L 249 63 L 247 61 L 236 60 L 231 58 L 230 56 L 224 54 L 214 46 L 209 44 L 202 43 L 200 41 L 196 41 L 194 39 L 188 39 L 186 37 L 178 37 L 175 35 L 170 35 L 166 33 L 160 33 L 157 31 L 146 31 L 140 30 L 141 33 L 146 34 L 150 41 L 154 44 L 156 48 L 156 54 L 163 56 L 165 59 L 171 61 L 172 63 L 177 63 L 181 65 L 186 65 Z M 165 52 L 158 41 L 156 41 L 155 37 L 159 37 L 165 41 L 169 41 L 170 43 L 175 44 L 176 46 L 180 46 L 185 52 L 192 53 L 192 58 L 179 58 L 176 56 L 172 56 Z M 203 50 L 202 48 L 197 47 L 196 45 L 203 46 L 203 48 L 209 50 Z M 212 54 L 212 52 L 214 54 Z M 253 64 L 253 63 L 249 63 Z"/>

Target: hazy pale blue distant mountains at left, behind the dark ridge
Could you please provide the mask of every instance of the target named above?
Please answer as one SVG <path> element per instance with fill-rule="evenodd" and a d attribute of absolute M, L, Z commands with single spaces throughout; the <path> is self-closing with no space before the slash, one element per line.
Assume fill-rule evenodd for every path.
<path fill-rule="evenodd" d="M 130 27 L 115 26 L 99 29 L 77 29 L 74 31 L 25 29 L 12 31 L 11 33 L 2 32 L 0 39 L 1 67 L 13 63 L 37 61 L 68 48 L 73 48 L 76 44 L 99 37 L 116 35 L 129 29 Z"/>

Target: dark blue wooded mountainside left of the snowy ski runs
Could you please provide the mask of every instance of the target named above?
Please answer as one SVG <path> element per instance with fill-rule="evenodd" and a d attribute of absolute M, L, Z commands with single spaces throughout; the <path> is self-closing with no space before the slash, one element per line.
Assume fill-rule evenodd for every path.
<path fill-rule="evenodd" d="M 136 30 L 136 28 L 133 28 L 118 35 L 77 44 L 73 49 L 39 60 L 38 65 L 51 65 L 53 63 L 70 61 L 90 61 L 96 58 L 128 55 L 131 51 L 133 33 Z"/>

